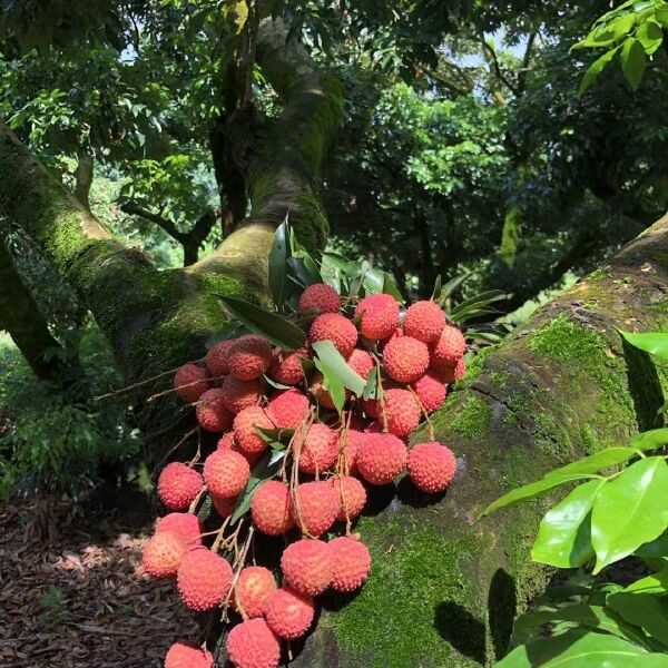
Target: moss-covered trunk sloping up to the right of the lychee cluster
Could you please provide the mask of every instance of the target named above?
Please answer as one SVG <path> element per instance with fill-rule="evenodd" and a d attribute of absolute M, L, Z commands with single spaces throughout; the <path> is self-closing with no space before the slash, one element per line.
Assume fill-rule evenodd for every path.
<path fill-rule="evenodd" d="M 627 355 L 615 327 L 666 326 L 666 250 L 668 217 L 479 356 L 434 418 L 458 455 L 454 483 L 435 501 L 406 483 L 394 500 L 393 489 L 379 491 L 357 525 L 371 579 L 328 602 L 296 666 L 454 668 L 503 655 L 513 618 L 550 574 L 530 560 L 548 501 L 477 515 L 505 491 L 656 424 L 661 374 Z"/>

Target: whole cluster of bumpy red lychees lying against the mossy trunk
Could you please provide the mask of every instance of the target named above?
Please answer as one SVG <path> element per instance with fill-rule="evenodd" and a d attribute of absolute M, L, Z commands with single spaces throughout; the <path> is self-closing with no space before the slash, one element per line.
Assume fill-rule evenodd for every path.
<path fill-rule="evenodd" d="M 237 668 L 277 666 L 281 640 L 308 631 L 314 597 L 352 592 L 365 581 L 371 554 L 351 528 L 367 485 L 392 483 L 407 470 L 418 489 L 438 493 L 455 471 L 453 453 L 433 435 L 406 445 L 421 420 L 443 404 L 446 385 L 464 373 L 464 337 L 441 307 L 416 302 L 402 318 L 391 295 L 342 304 L 334 288 L 317 284 L 302 294 L 299 312 L 310 325 L 299 350 L 274 348 L 248 334 L 214 346 L 205 366 L 186 364 L 176 373 L 175 389 L 195 404 L 202 429 L 222 435 L 202 473 L 198 462 L 165 466 L 158 495 L 171 512 L 144 552 L 146 571 L 175 577 L 189 608 L 236 610 L 242 621 L 227 636 L 227 656 Z M 326 379 L 304 362 L 323 341 L 362 380 L 373 372 L 375 391 L 364 399 L 346 390 L 343 410 L 335 411 Z M 252 524 L 239 548 L 230 519 L 248 494 L 253 466 L 272 452 L 269 433 L 285 441 L 282 465 L 253 489 Z M 194 514 L 204 491 L 223 522 L 209 547 Z M 323 540 L 336 522 L 342 536 Z M 281 587 L 271 570 L 244 562 L 255 531 L 291 541 L 281 558 Z M 206 649 L 177 644 L 165 666 L 210 668 L 213 661 Z"/>

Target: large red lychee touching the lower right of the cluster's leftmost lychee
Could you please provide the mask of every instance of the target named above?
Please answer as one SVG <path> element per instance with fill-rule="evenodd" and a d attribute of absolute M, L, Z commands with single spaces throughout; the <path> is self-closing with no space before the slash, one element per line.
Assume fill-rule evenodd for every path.
<path fill-rule="evenodd" d="M 190 550 L 184 557 L 176 587 L 188 608 L 204 612 L 217 608 L 232 587 L 232 567 L 223 557 L 206 548 Z"/>

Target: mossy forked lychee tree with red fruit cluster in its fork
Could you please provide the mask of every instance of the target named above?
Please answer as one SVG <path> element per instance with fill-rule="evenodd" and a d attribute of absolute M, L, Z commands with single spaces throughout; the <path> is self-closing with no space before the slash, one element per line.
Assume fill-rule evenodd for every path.
<path fill-rule="evenodd" d="M 451 28 L 443 3 L 416 7 L 345 11 L 413 66 Z M 344 89 L 291 37 L 311 26 L 326 40 L 334 9 L 196 12 L 227 27 L 222 169 L 244 207 L 186 268 L 159 271 L 121 243 L 0 126 L 0 212 L 95 316 L 147 434 L 165 513 L 146 570 L 176 576 L 184 602 L 207 613 L 168 667 L 493 664 L 552 574 L 530 557 L 549 500 L 482 511 L 662 424 L 666 370 L 619 331 L 666 326 L 667 217 L 491 346 L 499 331 L 472 323 L 495 293 L 458 303 L 459 282 L 436 282 L 411 304 L 384 272 L 323 253 L 322 175 Z M 39 26 L 10 19 L 11 40 L 19 19 Z M 256 78 L 275 94 L 271 109 L 254 105 Z M 3 321 L 18 289 L 0 291 Z"/>

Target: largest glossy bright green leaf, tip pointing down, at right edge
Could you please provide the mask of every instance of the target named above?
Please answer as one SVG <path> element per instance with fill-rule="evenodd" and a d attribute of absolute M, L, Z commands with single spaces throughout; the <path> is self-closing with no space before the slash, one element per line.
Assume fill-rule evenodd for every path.
<path fill-rule="evenodd" d="M 599 492 L 591 513 L 593 573 L 623 559 L 668 527 L 668 464 L 660 456 L 631 464 Z"/>

